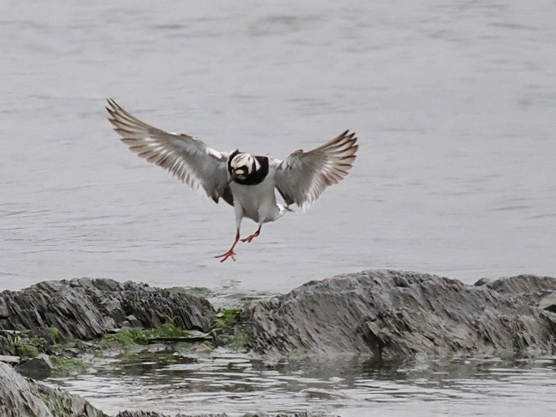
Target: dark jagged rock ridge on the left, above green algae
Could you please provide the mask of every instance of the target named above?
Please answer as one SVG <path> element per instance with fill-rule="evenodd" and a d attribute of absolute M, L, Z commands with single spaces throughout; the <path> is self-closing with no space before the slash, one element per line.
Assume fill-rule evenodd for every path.
<path fill-rule="evenodd" d="M 53 326 L 63 337 L 82 340 L 126 324 L 130 315 L 147 328 L 172 317 L 184 329 L 208 331 L 214 314 L 208 301 L 191 294 L 90 278 L 39 282 L 21 291 L 3 291 L 0 306 L 4 306 L 0 329 Z"/>

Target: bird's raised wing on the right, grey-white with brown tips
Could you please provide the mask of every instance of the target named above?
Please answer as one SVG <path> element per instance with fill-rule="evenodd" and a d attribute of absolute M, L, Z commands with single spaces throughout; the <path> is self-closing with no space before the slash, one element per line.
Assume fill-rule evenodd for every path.
<path fill-rule="evenodd" d="M 305 211 L 326 187 L 343 180 L 355 161 L 356 141 L 355 133 L 346 130 L 312 151 L 299 150 L 284 161 L 272 161 L 276 188 L 286 204 L 296 203 Z"/>

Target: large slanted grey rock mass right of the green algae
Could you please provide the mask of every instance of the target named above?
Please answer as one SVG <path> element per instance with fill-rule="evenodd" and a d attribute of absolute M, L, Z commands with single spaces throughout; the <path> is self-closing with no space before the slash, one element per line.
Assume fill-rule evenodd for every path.
<path fill-rule="evenodd" d="M 556 348 L 556 315 L 537 307 L 554 290 L 556 279 L 532 275 L 470 286 L 415 272 L 363 271 L 252 304 L 246 331 L 259 353 L 538 354 Z"/>

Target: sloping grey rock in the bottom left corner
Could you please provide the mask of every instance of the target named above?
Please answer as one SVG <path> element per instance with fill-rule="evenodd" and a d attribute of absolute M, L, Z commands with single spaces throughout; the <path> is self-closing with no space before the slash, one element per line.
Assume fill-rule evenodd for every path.
<path fill-rule="evenodd" d="M 82 398 L 34 381 L 27 381 L 0 363 L 2 417 L 107 417 Z"/>

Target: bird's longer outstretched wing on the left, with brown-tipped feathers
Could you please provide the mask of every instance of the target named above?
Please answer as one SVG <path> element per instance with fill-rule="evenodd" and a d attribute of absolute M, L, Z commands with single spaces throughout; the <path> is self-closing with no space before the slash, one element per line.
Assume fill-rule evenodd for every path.
<path fill-rule="evenodd" d="M 165 132 L 130 115 L 112 99 L 106 107 L 115 131 L 138 156 L 156 163 L 185 182 L 193 190 L 200 187 L 216 203 L 222 197 L 232 206 L 234 198 L 228 187 L 227 153 L 215 151 L 204 142 L 181 133 Z"/>

